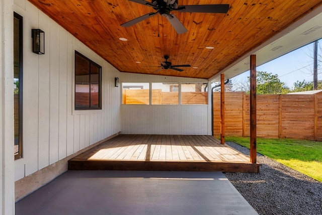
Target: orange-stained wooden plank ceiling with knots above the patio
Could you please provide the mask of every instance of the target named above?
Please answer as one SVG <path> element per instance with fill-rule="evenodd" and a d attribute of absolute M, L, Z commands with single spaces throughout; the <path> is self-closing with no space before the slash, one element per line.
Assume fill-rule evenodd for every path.
<path fill-rule="evenodd" d="M 121 72 L 207 79 L 322 5 L 317 0 L 179 0 L 179 6 L 229 4 L 230 8 L 227 14 L 173 11 L 188 30 L 178 35 L 159 14 L 131 27 L 121 27 L 155 12 L 151 7 L 127 0 L 29 2 Z M 121 41 L 120 37 L 128 41 Z M 205 49 L 206 46 L 214 49 Z M 173 65 L 192 67 L 182 67 L 182 72 L 172 69 L 155 72 L 164 55 L 170 56 Z"/>

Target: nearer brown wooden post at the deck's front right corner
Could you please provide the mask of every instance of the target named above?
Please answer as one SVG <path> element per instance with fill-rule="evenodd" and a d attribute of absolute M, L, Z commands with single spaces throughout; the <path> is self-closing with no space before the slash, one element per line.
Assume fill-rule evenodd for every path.
<path fill-rule="evenodd" d="M 251 163 L 257 159 L 256 138 L 256 55 L 251 55 L 251 92 L 250 92 L 250 158 Z"/>

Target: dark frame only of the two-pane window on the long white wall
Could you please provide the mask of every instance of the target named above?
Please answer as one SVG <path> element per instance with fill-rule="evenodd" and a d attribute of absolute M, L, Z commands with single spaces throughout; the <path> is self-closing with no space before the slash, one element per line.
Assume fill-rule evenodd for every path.
<path fill-rule="evenodd" d="M 90 96 L 89 96 L 89 101 L 90 101 L 90 106 L 89 107 L 76 107 L 76 55 L 84 58 L 85 60 L 89 61 L 89 83 L 91 85 L 91 65 L 96 66 L 99 69 L 99 81 L 98 81 L 98 107 L 91 107 L 91 90 L 90 90 Z M 78 51 L 75 50 L 74 53 L 74 111 L 89 111 L 89 110 L 102 110 L 102 66 L 100 66 L 98 63 L 94 62 L 93 60 L 89 59 L 85 55 L 79 53 Z"/>

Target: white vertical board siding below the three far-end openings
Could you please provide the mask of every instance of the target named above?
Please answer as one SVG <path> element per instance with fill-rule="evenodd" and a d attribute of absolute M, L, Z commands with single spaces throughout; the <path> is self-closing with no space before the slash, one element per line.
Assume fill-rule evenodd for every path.
<path fill-rule="evenodd" d="M 207 105 L 121 106 L 122 134 L 207 135 Z"/>

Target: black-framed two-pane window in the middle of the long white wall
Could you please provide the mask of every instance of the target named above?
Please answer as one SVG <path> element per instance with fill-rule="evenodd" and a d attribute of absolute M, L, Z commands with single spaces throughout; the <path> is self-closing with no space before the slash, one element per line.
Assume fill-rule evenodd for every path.
<path fill-rule="evenodd" d="M 102 109 L 102 67 L 75 51 L 75 110 Z"/>

